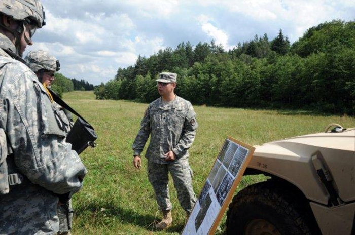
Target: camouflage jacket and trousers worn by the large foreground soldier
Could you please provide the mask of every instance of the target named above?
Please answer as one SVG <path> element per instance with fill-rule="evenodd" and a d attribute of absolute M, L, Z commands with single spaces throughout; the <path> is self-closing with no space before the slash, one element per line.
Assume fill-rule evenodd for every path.
<path fill-rule="evenodd" d="M 54 234 L 58 195 L 79 191 L 87 170 L 37 76 L 9 56 L 15 48 L 2 34 L 0 47 L 0 128 L 12 152 L 3 165 L 22 178 L 0 195 L 0 233 Z"/>

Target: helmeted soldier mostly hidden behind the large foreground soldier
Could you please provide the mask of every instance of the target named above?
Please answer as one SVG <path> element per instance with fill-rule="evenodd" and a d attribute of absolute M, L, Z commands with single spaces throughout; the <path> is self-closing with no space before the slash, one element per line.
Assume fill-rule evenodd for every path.
<path fill-rule="evenodd" d="M 25 61 L 27 66 L 37 75 L 40 82 L 42 82 L 45 89 L 49 89 L 54 81 L 54 73 L 59 71 L 60 63 L 59 61 L 48 52 L 38 50 L 29 52 Z M 69 111 L 64 112 L 64 108 L 53 101 L 50 92 L 47 90 L 49 97 L 51 98 L 52 104 L 57 108 L 58 113 L 61 115 L 63 120 L 63 129 L 68 133 L 73 127 L 73 117 Z M 59 232 L 58 235 L 70 234 L 70 229 L 72 228 L 73 222 L 73 209 L 72 200 L 69 200 L 68 205 L 60 205 L 57 210 L 59 217 Z"/>

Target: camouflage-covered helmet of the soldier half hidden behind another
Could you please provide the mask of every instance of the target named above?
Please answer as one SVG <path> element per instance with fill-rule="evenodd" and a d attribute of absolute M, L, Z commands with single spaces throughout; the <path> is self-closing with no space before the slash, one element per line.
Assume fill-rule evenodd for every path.
<path fill-rule="evenodd" d="M 33 72 L 41 69 L 57 72 L 60 69 L 59 61 L 48 52 L 42 50 L 29 52 L 25 57 L 25 61 Z"/>

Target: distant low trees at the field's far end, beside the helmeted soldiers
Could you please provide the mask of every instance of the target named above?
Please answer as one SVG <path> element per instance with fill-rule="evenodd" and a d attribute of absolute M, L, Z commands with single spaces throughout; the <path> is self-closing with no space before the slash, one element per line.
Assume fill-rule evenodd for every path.
<path fill-rule="evenodd" d="M 70 91 L 92 91 L 94 85 L 89 84 L 85 80 L 68 79 L 63 74 L 56 72 L 54 74 L 54 82 L 51 89 L 59 96 L 63 96 L 63 92 Z"/>

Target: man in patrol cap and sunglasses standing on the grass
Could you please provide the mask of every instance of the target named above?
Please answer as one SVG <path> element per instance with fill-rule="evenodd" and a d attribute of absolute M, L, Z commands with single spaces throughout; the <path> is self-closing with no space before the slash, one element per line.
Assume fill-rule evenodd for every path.
<path fill-rule="evenodd" d="M 148 160 L 148 178 L 163 212 L 162 221 L 156 225 L 161 230 L 172 223 L 168 172 L 172 176 L 180 205 L 187 214 L 195 205 L 188 149 L 195 139 L 198 125 L 191 103 L 174 93 L 176 73 L 160 73 L 156 81 L 161 97 L 149 104 L 132 149 L 133 165 L 140 168 L 140 153 L 151 135 L 145 156 Z"/>

